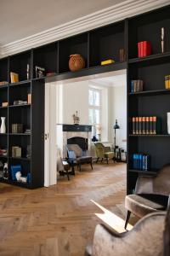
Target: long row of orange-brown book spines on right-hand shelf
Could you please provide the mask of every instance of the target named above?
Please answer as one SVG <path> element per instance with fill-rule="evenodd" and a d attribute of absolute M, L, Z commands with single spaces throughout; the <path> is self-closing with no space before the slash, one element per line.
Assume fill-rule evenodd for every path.
<path fill-rule="evenodd" d="M 156 116 L 133 117 L 133 134 L 161 133 L 161 120 Z"/>

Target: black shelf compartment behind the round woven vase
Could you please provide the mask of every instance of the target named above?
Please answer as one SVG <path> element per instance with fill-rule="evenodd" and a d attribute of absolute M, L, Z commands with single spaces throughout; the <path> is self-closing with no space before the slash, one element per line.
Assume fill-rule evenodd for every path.
<path fill-rule="evenodd" d="M 88 33 L 66 38 L 59 41 L 59 73 L 70 71 L 70 55 L 80 54 L 88 67 Z"/>

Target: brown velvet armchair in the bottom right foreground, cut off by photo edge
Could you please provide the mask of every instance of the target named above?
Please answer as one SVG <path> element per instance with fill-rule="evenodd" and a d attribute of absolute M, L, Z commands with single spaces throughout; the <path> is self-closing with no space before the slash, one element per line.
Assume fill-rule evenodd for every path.
<path fill-rule="evenodd" d="M 86 256 L 167 256 L 170 255 L 170 212 L 154 212 L 121 234 L 98 224 Z"/>

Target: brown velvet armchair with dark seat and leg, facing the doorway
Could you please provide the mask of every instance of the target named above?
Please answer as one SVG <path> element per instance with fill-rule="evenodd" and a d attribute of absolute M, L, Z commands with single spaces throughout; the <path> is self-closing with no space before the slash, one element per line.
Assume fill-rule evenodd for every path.
<path fill-rule="evenodd" d="M 156 177 L 139 177 L 135 194 L 127 195 L 125 198 L 125 207 L 127 208 L 125 229 L 131 212 L 142 218 L 150 212 L 166 210 L 168 195 L 170 195 L 169 164 L 164 166 Z"/>

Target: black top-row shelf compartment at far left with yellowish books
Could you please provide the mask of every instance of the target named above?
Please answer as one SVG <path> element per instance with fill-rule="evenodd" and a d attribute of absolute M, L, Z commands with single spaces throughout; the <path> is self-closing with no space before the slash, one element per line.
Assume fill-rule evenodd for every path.
<path fill-rule="evenodd" d="M 20 54 L 12 55 L 9 57 L 9 81 L 10 72 L 19 74 L 19 81 L 26 82 L 27 80 L 27 64 L 30 67 L 29 79 L 31 79 L 31 50 L 22 52 Z M 28 81 L 28 80 L 27 80 Z M 20 84 L 20 82 L 14 84 Z"/>

